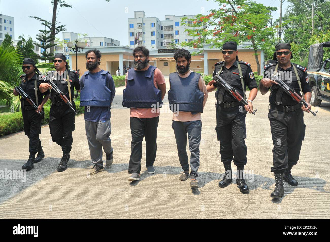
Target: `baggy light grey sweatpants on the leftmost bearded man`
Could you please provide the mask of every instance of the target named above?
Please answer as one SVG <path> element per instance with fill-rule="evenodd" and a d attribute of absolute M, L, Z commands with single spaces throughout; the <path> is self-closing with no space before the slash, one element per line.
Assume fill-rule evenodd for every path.
<path fill-rule="evenodd" d="M 103 166 L 102 147 L 106 154 L 113 151 L 111 147 L 111 123 L 107 121 L 85 121 L 86 136 L 90 158 L 94 164 Z"/>

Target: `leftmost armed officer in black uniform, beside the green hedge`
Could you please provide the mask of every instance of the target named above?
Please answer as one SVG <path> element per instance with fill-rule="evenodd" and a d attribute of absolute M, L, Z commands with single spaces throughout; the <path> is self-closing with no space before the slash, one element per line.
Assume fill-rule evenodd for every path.
<path fill-rule="evenodd" d="M 21 99 L 24 133 L 30 140 L 30 156 L 28 161 L 22 166 L 22 169 L 31 170 L 34 166 L 33 163 L 37 163 L 45 157 L 39 134 L 41 133 L 41 121 L 44 118 L 43 107 L 49 98 L 49 91 L 45 90 L 43 93 L 39 91 L 39 85 L 44 81 L 44 76 L 35 66 L 34 60 L 25 58 L 23 60 L 22 69 L 25 74 L 21 76 L 21 83 L 19 86 L 31 97 L 32 101 L 38 106 L 38 111 L 43 114 L 43 116 L 40 116 L 34 107 L 32 107 L 25 99 Z M 18 95 L 15 89 L 13 93 L 15 96 Z M 35 157 L 37 152 L 38 155 Z"/>

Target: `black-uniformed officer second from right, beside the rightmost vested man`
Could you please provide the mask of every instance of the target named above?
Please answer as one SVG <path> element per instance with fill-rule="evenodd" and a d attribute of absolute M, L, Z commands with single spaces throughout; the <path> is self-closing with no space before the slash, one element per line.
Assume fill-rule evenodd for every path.
<path fill-rule="evenodd" d="M 213 76 L 219 74 L 229 85 L 234 87 L 245 99 L 246 86 L 251 90 L 248 105 L 243 105 L 223 88 L 217 86 L 215 81 L 207 85 L 208 92 L 217 88 L 216 97 L 216 134 L 220 141 L 221 161 L 225 167 L 225 175 L 219 182 L 219 187 L 226 187 L 231 183 L 231 161 L 237 166 L 236 183 L 241 192 L 248 192 L 248 185 L 243 178 L 244 166 L 247 163 L 247 147 L 245 116 L 253 110 L 252 101 L 257 95 L 257 84 L 250 64 L 238 61 L 237 43 L 228 41 L 222 48 L 224 61 L 215 64 Z M 244 88 L 243 88 L 244 86 Z M 244 90 L 244 91 L 243 91 Z"/>

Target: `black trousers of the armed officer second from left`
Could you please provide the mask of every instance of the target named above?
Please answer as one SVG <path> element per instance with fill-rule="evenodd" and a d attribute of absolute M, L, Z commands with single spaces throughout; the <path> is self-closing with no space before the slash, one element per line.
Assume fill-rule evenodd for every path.
<path fill-rule="evenodd" d="M 69 153 L 72 148 L 72 132 L 75 130 L 75 113 L 69 105 L 50 106 L 49 131 L 51 139 Z"/>

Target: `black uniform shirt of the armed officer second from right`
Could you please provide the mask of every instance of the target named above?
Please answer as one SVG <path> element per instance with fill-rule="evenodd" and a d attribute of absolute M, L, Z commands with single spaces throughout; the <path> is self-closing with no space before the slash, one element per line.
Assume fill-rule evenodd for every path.
<path fill-rule="evenodd" d="M 230 86 L 234 87 L 237 90 L 237 92 L 239 92 L 239 94 L 241 94 L 244 97 L 241 78 L 239 75 L 240 72 L 237 67 L 237 62 L 235 61 L 234 64 L 231 67 L 229 67 L 229 69 L 226 68 L 225 65 L 223 65 L 222 73 L 219 73 L 222 65 L 223 65 L 223 61 L 215 64 L 215 70 L 213 72 L 213 77 L 215 75 L 219 74 Z M 257 83 L 255 81 L 254 74 L 250 67 L 250 64 L 240 61 L 240 66 L 242 69 L 245 90 L 246 90 L 247 85 L 250 90 L 253 88 L 257 88 Z M 217 86 L 216 83 L 213 85 L 218 88 L 215 93 L 215 97 L 217 98 L 218 92 L 220 90 L 220 88 L 219 88 L 220 85 Z M 231 94 L 229 94 L 228 92 L 225 92 L 223 95 L 223 101 L 224 102 L 235 102 L 237 100 Z"/>

